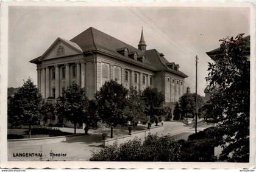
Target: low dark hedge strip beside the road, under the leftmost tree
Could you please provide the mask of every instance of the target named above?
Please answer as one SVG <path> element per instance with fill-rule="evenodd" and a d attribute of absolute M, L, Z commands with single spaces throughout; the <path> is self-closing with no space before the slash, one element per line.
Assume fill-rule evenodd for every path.
<path fill-rule="evenodd" d="M 26 134 L 29 134 L 29 131 L 26 131 Z M 32 128 L 31 135 L 36 134 L 48 134 L 49 136 L 66 136 L 72 133 L 60 131 L 59 128 Z"/>

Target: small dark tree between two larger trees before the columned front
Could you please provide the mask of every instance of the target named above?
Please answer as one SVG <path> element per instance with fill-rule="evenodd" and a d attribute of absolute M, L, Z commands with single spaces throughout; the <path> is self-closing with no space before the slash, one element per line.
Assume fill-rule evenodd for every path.
<path fill-rule="evenodd" d="M 55 119 L 55 106 L 53 103 L 42 100 L 39 111 L 41 114 L 41 120 L 44 122 L 44 124 L 48 122 L 48 119 Z"/>

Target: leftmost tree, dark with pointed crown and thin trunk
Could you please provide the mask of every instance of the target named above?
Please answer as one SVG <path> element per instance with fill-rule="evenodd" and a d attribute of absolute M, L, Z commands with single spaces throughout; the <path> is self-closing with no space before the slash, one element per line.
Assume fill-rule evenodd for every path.
<path fill-rule="evenodd" d="M 41 95 L 31 78 L 23 82 L 23 86 L 15 92 L 10 99 L 8 106 L 8 121 L 12 125 L 29 124 L 29 138 L 31 135 L 31 125 L 40 123 Z"/>

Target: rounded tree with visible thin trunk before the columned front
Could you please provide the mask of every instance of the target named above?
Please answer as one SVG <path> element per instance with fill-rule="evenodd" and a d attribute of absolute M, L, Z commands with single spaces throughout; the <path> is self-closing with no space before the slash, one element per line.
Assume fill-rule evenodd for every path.
<path fill-rule="evenodd" d="M 62 97 L 57 102 L 57 112 L 74 124 L 74 134 L 76 134 L 76 124 L 84 120 L 87 111 L 88 98 L 85 90 L 76 83 L 72 83 L 63 91 Z"/>

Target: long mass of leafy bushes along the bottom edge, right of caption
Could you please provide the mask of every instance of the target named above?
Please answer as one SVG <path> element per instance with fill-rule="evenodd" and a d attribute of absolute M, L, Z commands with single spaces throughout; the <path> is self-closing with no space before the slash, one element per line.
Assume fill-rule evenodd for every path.
<path fill-rule="evenodd" d="M 159 137 L 149 134 L 143 144 L 140 139 L 129 140 L 119 147 L 115 143 L 104 150 L 93 152 L 90 160 L 95 161 L 179 161 L 180 143 L 170 136 Z"/>

